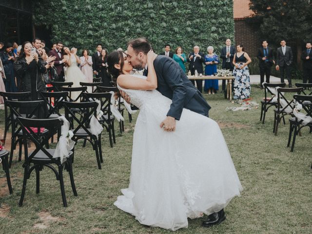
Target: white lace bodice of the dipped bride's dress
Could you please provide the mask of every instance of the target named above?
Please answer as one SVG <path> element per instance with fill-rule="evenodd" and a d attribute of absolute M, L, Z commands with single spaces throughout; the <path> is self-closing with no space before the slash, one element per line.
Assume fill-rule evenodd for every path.
<path fill-rule="evenodd" d="M 145 76 L 132 75 L 137 78 L 146 79 Z M 118 82 L 118 81 L 117 81 Z M 157 90 L 134 90 L 134 89 L 124 89 L 121 88 L 118 83 L 117 87 L 119 90 L 124 91 L 130 98 L 131 103 L 137 106 L 137 108 L 142 109 L 143 107 L 152 107 L 156 110 L 163 110 L 164 108 L 170 106 L 172 100 L 163 96 Z"/>

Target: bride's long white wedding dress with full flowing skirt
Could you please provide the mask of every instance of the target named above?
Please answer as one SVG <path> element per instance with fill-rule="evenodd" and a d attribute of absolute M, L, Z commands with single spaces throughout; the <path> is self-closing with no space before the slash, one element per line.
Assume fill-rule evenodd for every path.
<path fill-rule="evenodd" d="M 136 76 L 146 78 L 143 76 Z M 210 215 L 240 195 L 242 186 L 218 124 L 183 109 L 175 132 L 159 127 L 172 100 L 157 90 L 127 90 L 139 109 L 129 188 L 114 203 L 144 225 L 188 227 L 188 217 Z"/>

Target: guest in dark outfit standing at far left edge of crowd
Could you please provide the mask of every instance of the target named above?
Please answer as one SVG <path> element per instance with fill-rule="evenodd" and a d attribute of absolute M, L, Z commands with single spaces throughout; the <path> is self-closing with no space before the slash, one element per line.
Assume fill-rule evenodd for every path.
<path fill-rule="evenodd" d="M 5 73 L 5 90 L 6 92 L 17 92 L 17 87 L 15 83 L 15 76 L 14 76 L 14 55 L 13 55 L 13 45 L 8 42 L 4 47 L 4 52 L 1 53 L 1 60 L 4 68 Z"/>

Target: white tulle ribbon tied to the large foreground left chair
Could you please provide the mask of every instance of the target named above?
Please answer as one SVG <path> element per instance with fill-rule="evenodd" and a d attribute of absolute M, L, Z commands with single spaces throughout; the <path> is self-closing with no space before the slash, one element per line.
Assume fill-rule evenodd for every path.
<path fill-rule="evenodd" d="M 63 121 L 61 127 L 61 136 L 59 137 L 59 142 L 53 154 L 53 158 L 60 158 L 61 163 L 67 160 L 70 151 L 75 146 L 75 141 L 72 140 L 74 136 L 73 132 L 69 130 L 69 122 L 64 116 L 60 116 L 59 120 Z"/>

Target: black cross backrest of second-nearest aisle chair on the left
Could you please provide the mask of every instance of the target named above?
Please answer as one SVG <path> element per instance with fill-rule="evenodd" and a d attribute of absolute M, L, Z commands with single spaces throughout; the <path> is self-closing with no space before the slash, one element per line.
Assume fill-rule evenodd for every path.
<path fill-rule="evenodd" d="M 62 106 L 65 109 L 65 118 L 68 121 L 73 121 L 71 123 L 71 126 L 74 126 L 74 122 L 78 123 L 76 127 L 74 127 L 73 133 L 76 134 L 77 131 L 82 128 L 85 130 L 85 132 L 92 137 L 91 132 L 87 129 L 89 126 L 89 121 L 92 115 L 96 117 L 97 115 L 97 107 L 98 103 L 96 101 L 90 101 L 90 102 L 68 102 L 68 101 L 62 101 Z M 82 115 L 80 118 L 76 117 L 73 113 L 72 109 L 78 109 Z M 70 118 L 72 117 L 72 118 Z"/>

